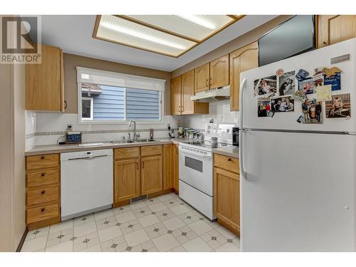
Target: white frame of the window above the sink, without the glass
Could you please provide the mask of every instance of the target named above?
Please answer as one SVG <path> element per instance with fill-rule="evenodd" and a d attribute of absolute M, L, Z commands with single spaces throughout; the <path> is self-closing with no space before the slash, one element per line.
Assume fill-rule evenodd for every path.
<path fill-rule="evenodd" d="M 127 120 L 127 98 L 126 98 L 126 89 L 125 88 L 125 120 L 94 120 L 93 119 L 88 119 L 88 118 L 82 118 L 82 99 L 85 97 L 82 97 L 82 82 L 78 79 L 78 75 L 80 75 L 81 70 L 85 68 L 80 68 L 77 67 L 77 84 L 78 84 L 78 125 L 126 125 L 130 120 Z M 93 71 L 93 69 L 90 69 Z M 115 73 L 112 72 L 106 72 L 105 70 L 98 70 L 98 75 L 100 73 L 110 73 L 110 75 L 115 75 Z M 121 73 L 117 73 L 117 75 L 120 75 Z M 148 77 L 147 77 L 148 78 Z M 155 78 L 152 78 L 155 79 Z M 157 80 L 157 79 L 156 79 Z M 90 83 L 90 82 L 87 82 Z M 99 85 L 105 85 L 105 83 L 98 83 Z M 113 84 L 108 84 L 108 86 L 117 86 L 122 88 L 120 85 L 113 85 Z M 133 88 L 135 89 L 135 88 Z M 139 88 L 140 90 L 148 90 L 145 88 Z M 164 110 L 164 91 L 161 90 L 156 90 L 159 92 L 159 120 L 135 120 L 137 125 L 162 125 L 163 124 L 163 110 Z M 93 107 L 93 98 L 92 99 L 92 107 Z M 94 107 L 90 112 L 94 111 Z M 90 117 L 93 117 L 93 114 L 90 114 Z"/>

